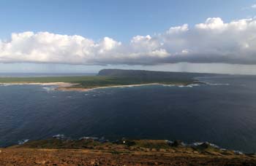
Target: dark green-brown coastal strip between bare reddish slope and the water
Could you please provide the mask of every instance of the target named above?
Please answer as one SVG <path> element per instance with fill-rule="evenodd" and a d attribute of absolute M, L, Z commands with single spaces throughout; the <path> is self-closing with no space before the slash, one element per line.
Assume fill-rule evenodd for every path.
<path fill-rule="evenodd" d="M 49 138 L 46 140 L 29 141 L 22 145 L 10 146 L 9 149 L 94 149 L 108 151 L 111 154 L 124 154 L 131 151 L 162 151 L 182 152 L 187 154 L 213 154 L 213 155 L 234 155 L 234 151 L 222 150 L 203 143 L 197 146 L 184 146 L 180 141 L 169 143 L 164 140 L 119 140 L 100 142 L 91 138 L 80 140 L 69 140 Z"/>

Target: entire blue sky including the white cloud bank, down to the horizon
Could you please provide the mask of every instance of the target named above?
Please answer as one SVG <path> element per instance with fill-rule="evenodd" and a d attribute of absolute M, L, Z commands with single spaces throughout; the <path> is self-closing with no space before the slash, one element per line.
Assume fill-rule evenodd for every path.
<path fill-rule="evenodd" d="M 0 72 L 256 74 L 256 1 L 0 1 Z"/>

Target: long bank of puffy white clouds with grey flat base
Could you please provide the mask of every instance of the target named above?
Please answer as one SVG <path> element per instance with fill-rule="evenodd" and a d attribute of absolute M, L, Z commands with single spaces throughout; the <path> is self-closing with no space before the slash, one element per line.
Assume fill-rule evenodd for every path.
<path fill-rule="evenodd" d="M 256 19 L 225 23 L 219 17 L 210 17 L 204 23 L 170 27 L 153 36 L 134 36 L 126 44 L 107 36 L 95 42 L 84 36 L 31 31 L 12 33 L 10 39 L 0 40 L 0 63 L 24 62 L 256 64 Z"/>

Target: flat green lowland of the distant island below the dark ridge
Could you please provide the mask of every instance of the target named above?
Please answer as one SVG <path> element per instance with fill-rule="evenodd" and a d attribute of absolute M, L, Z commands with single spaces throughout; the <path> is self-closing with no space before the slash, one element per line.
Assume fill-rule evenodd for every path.
<path fill-rule="evenodd" d="M 49 76 L 49 77 L 26 77 L 26 78 L 0 78 L 1 83 L 49 83 L 49 82 L 67 82 L 77 84 L 74 87 L 93 88 L 108 87 L 116 85 L 129 84 L 190 84 L 193 80 L 175 80 L 175 79 L 150 79 L 127 76 Z"/>

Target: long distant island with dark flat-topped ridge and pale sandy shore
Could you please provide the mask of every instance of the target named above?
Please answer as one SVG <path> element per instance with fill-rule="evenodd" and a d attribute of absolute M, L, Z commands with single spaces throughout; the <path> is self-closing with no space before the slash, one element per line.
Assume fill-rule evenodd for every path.
<path fill-rule="evenodd" d="M 196 76 L 213 74 L 103 69 L 96 76 L 0 77 L 0 84 L 58 85 L 57 90 L 91 90 L 105 87 L 141 86 L 149 84 L 200 84 Z"/>

